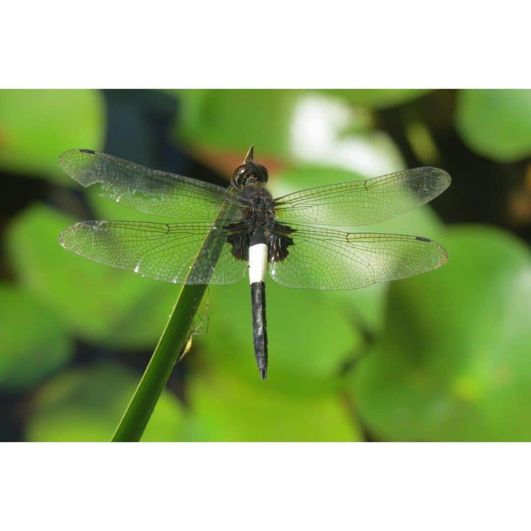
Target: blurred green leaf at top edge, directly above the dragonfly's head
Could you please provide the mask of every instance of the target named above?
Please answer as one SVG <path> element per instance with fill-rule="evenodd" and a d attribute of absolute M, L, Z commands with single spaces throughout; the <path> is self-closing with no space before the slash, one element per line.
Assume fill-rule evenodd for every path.
<path fill-rule="evenodd" d="M 262 156 L 289 153 L 290 118 L 296 90 L 182 90 L 179 136 L 216 150 L 245 153 L 250 144 Z"/>

